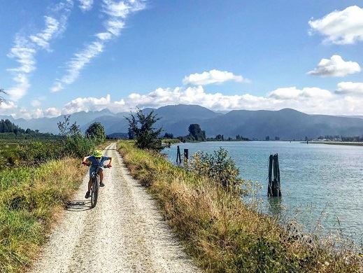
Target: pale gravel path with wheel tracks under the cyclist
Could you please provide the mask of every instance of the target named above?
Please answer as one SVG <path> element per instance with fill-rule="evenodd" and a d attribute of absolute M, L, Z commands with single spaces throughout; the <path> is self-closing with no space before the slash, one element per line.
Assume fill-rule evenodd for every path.
<path fill-rule="evenodd" d="M 131 178 L 111 144 L 97 207 L 85 200 L 88 176 L 69 202 L 30 272 L 199 272 L 163 221 L 155 201 Z"/>

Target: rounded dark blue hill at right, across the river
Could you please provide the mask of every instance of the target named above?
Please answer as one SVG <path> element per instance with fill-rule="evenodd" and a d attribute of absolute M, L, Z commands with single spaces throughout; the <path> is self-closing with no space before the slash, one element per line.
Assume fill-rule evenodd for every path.
<path fill-rule="evenodd" d="M 363 120 L 336 116 L 308 115 L 293 109 L 280 111 L 230 111 L 206 120 L 201 127 L 208 135 L 241 134 L 250 139 L 280 137 L 280 139 L 317 138 L 327 134 L 357 136 L 363 134 Z"/>

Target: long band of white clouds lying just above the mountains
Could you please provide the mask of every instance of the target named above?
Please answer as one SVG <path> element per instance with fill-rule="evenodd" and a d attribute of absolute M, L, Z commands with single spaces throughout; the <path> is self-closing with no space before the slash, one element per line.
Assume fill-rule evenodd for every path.
<path fill-rule="evenodd" d="M 17 118 L 54 117 L 61 113 L 72 114 L 79 111 L 101 111 L 109 109 L 113 113 L 134 111 L 136 107 L 145 108 L 173 105 L 197 104 L 212 110 L 279 110 L 292 108 L 304 113 L 323 113 L 330 115 L 363 115 L 363 83 L 339 83 L 336 94 L 318 87 L 282 87 L 264 96 L 253 94 L 225 95 L 220 92 L 208 93 L 204 87 L 162 88 L 147 94 L 131 93 L 118 101 L 105 97 L 78 97 L 64 105 L 62 110 L 56 108 L 20 109 Z M 10 109 L 10 108 L 9 108 Z M 13 109 L 10 109 L 13 110 Z M 9 110 L 9 111 L 10 111 Z"/>

